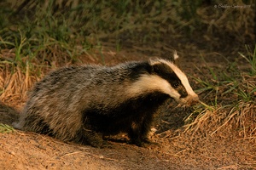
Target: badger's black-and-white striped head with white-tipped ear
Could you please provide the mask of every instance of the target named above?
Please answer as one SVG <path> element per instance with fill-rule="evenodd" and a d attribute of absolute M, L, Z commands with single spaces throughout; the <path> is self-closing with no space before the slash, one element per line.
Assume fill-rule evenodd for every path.
<path fill-rule="evenodd" d="M 166 59 L 149 59 L 149 74 L 143 74 L 133 84 L 133 93 L 159 91 L 168 94 L 180 105 L 193 105 L 199 98 L 190 87 L 186 75 L 176 65 L 178 55 L 173 54 L 173 62 Z"/>

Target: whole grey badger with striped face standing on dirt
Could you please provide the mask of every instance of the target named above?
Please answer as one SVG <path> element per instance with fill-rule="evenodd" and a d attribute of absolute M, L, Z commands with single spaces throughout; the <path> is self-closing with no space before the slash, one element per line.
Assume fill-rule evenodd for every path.
<path fill-rule="evenodd" d="M 131 144 L 149 143 L 154 113 L 166 99 L 198 101 L 173 61 L 150 58 L 114 66 L 68 66 L 49 73 L 32 89 L 16 128 L 63 141 L 102 147 L 105 136 L 127 133 Z"/>

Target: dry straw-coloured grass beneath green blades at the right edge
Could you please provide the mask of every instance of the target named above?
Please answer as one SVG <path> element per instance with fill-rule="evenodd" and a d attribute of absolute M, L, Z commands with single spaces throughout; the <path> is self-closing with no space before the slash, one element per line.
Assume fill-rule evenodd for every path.
<path fill-rule="evenodd" d="M 196 111 L 199 111 L 199 109 Z M 204 133 L 222 137 L 235 135 L 238 139 L 248 139 L 255 143 L 255 111 L 256 104 L 253 101 L 239 101 L 236 105 L 217 106 L 217 108 L 207 105 L 206 108 L 200 109 L 200 113 L 195 116 L 193 122 L 184 126 L 183 133 L 192 133 L 192 135 Z M 189 122 L 195 112 L 185 122 Z"/>

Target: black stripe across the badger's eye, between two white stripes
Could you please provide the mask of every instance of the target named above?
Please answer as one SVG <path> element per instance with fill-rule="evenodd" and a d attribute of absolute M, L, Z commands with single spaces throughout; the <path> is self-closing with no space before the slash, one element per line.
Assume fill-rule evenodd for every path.
<path fill-rule="evenodd" d="M 186 88 L 184 88 L 176 73 L 172 71 L 172 69 L 168 65 L 160 63 L 157 65 L 153 65 L 153 69 L 155 74 L 165 79 L 172 85 L 172 88 L 177 90 L 178 94 L 181 95 L 181 98 L 185 98 L 186 96 L 188 96 Z"/>

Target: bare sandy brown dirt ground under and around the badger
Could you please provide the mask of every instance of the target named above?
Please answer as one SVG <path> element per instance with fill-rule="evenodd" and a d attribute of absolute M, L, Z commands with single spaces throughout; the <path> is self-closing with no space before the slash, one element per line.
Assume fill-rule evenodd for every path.
<path fill-rule="evenodd" d="M 196 74 L 195 63 L 203 64 L 200 57 L 190 56 L 183 58 L 182 67 L 183 71 L 193 76 Z M 224 66 L 225 61 L 221 63 L 223 59 L 221 56 L 218 59 L 218 56 L 207 58 L 211 61 L 208 64 Z M 105 51 L 108 65 L 146 58 L 143 53 L 125 49 L 119 54 L 112 50 Z M 86 59 L 94 63 L 102 62 L 101 58 L 92 55 Z M 191 84 L 192 87 L 196 86 L 195 82 Z M 18 102 L 1 103 L 0 123 L 11 125 L 18 119 L 25 101 Z M 189 114 L 189 110 L 173 110 L 172 106 L 176 104 L 168 102 L 161 108 L 160 116 L 154 123 L 158 131 L 151 138 L 158 144 L 137 147 L 126 144 L 125 135 L 120 134 L 110 139 L 110 148 L 97 149 L 17 130 L 0 133 L 0 169 L 256 169 L 255 144 L 247 139 L 238 139 L 232 133 L 223 136 L 180 133 L 183 118 Z M 172 121 L 163 121 L 166 112 L 170 111 Z"/>

